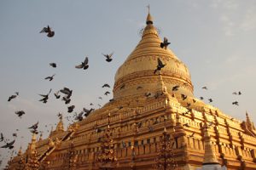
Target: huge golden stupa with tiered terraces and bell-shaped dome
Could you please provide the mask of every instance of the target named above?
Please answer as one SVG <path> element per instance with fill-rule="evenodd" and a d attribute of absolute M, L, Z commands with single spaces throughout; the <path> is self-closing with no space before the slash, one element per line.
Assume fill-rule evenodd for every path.
<path fill-rule="evenodd" d="M 48 139 L 33 135 L 8 169 L 256 169 L 249 116 L 240 122 L 196 99 L 189 69 L 160 48 L 153 21 L 148 13 L 142 40 L 116 72 L 113 101 L 67 130 L 60 119 Z M 154 74 L 158 58 L 166 66 Z"/>

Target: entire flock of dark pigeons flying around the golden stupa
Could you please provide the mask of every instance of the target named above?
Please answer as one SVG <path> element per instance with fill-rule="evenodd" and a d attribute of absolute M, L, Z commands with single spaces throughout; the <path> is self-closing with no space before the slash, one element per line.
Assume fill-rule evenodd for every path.
<path fill-rule="evenodd" d="M 52 31 L 52 29 L 51 29 L 49 26 L 44 27 L 43 30 L 40 31 L 40 33 L 47 33 L 47 37 L 54 37 L 54 36 L 55 36 L 55 31 Z M 160 48 L 165 48 L 165 49 L 166 49 L 169 44 L 170 44 L 170 42 L 168 42 L 168 39 L 167 39 L 166 37 L 164 37 L 164 41 L 163 41 L 163 42 L 160 42 Z M 102 54 L 102 55 L 106 57 L 106 61 L 107 61 L 107 62 L 111 62 L 111 61 L 112 61 L 113 53 L 111 53 L 111 54 Z M 49 65 L 50 65 L 51 67 L 53 67 L 53 68 L 56 68 L 56 67 L 57 67 L 56 63 L 49 63 Z M 165 66 L 166 66 L 166 65 L 163 64 L 163 62 L 160 60 L 160 58 L 158 58 L 158 59 L 157 59 L 157 65 L 156 65 L 156 68 L 155 68 L 155 70 L 154 70 L 154 74 L 155 74 L 157 71 L 161 71 L 161 69 L 164 68 Z M 89 59 L 88 59 L 88 57 L 85 57 L 84 61 L 81 62 L 80 65 L 75 65 L 75 68 L 77 68 L 77 69 L 84 69 L 84 70 L 88 69 L 88 68 L 89 68 Z M 52 76 L 50 76 L 50 77 L 45 77 L 44 79 L 45 79 L 45 80 L 49 80 L 49 82 L 50 82 L 50 81 L 53 81 L 54 77 L 55 77 L 55 74 L 52 75 Z M 102 86 L 102 88 L 110 88 L 110 86 L 108 85 L 108 83 L 105 83 L 105 84 Z M 124 88 L 125 88 L 125 84 L 121 85 L 120 89 L 124 89 Z M 141 86 L 138 86 L 138 87 L 137 87 L 137 89 L 140 89 L 140 88 L 143 88 L 143 87 L 141 87 Z M 180 86 L 178 86 L 178 85 L 177 85 L 177 86 L 174 86 L 174 87 L 172 88 L 172 91 L 173 91 L 173 92 L 174 92 L 174 91 L 177 91 L 177 90 L 179 90 L 179 88 L 180 88 Z M 207 87 L 202 87 L 202 88 L 205 89 L 205 90 L 207 90 Z M 46 103 L 48 102 L 49 94 L 50 94 L 51 92 L 52 92 L 52 89 L 50 88 L 48 94 L 39 94 L 42 99 L 39 99 L 38 101 L 43 102 L 44 104 L 46 104 Z M 64 96 L 62 96 L 62 98 L 61 98 L 61 94 L 60 94 L 60 93 L 61 93 L 61 94 L 64 94 Z M 62 101 L 64 102 L 64 104 L 65 104 L 65 105 L 68 105 L 68 104 L 71 102 L 72 94 L 73 94 L 73 90 L 65 87 L 65 88 L 62 88 L 62 89 L 58 90 L 57 92 L 55 92 L 55 93 L 54 93 L 54 96 L 55 96 L 55 99 L 62 99 Z M 104 93 L 104 95 L 108 95 L 108 94 L 110 94 L 109 91 L 106 91 L 106 92 Z M 241 92 L 240 92 L 240 91 L 239 91 L 239 92 L 234 92 L 233 94 L 234 94 L 234 95 L 241 95 Z M 15 94 L 9 96 L 8 102 L 10 102 L 12 99 L 17 98 L 18 96 L 19 96 L 19 92 L 15 92 Z M 146 97 L 146 98 L 151 97 L 151 93 L 150 93 L 150 92 L 147 92 L 147 93 L 145 94 L 145 97 Z M 156 94 L 154 97 L 155 97 L 155 98 L 158 98 L 158 97 L 159 97 L 159 94 Z M 181 98 L 182 98 L 183 100 L 185 100 L 185 99 L 187 99 L 187 96 L 186 96 L 185 94 L 181 94 Z M 102 99 L 102 97 L 99 97 L 98 99 Z M 202 99 L 204 99 L 204 98 L 203 98 L 203 97 L 200 97 L 200 99 L 202 100 Z M 110 99 L 109 101 L 111 102 L 111 101 L 113 101 L 113 99 Z M 212 100 L 212 99 L 208 99 L 208 101 L 209 101 L 209 103 L 212 103 L 213 100 Z M 195 99 L 193 99 L 193 102 L 195 102 Z M 90 103 L 90 106 L 92 106 L 92 105 L 93 105 L 93 104 Z M 188 106 L 188 111 L 185 112 L 185 113 L 183 113 L 183 115 L 189 114 L 189 111 L 191 111 L 191 109 L 189 109 L 189 106 L 190 106 L 190 105 L 191 105 L 191 104 L 189 104 L 189 103 L 187 104 L 187 106 Z M 238 105 L 238 101 L 234 101 L 234 102 L 232 103 L 232 105 Z M 99 105 L 99 104 L 98 104 L 98 106 L 101 107 L 101 105 Z M 123 106 L 119 106 L 118 109 L 121 110 L 122 108 L 123 108 Z M 67 106 L 67 112 L 68 112 L 68 113 L 72 113 L 74 109 L 75 109 L 75 105 L 69 105 L 69 106 Z M 75 112 L 75 113 L 73 114 L 73 118 L 74 118 L 74 120 L 82 121 L 82 120 L 84 119 L 84 117 L 89 116 L 92 111 L 94 111 L 93 108 L 90 108 L 90 109 L 83 108 L 83 110 L 80 111 L 79 114 Z M 21 117 L 22 117 L 23 115 L 25 115 L 26 113 L 25 113 L 25 111 L 15 111 L 15 114 L 21 118 Z M 59 113 L 57 116 L 59 116 L 60 118 L 62 118 L 62 114 L 61 114 L 61 113 Z M 69 120 L 70 117 L 72 117 L 72 116 L 66 116 L 67 121 L 70 121 L 70 120 Z M 28 127 L 28 129 L 30 129 L 30 132 L 31 132 L 31 133 L 38 133 L 38 123 L 39 123 L 39 122 L 33 124 L 31 127 Z M 142 125 L 142 123 L 140 122 L 140 123 L 137 124 L 137 127 L 141 127 L 141 125 Z M 185 123 L 185 124 L 183 124 L 183 126 L 189 127 L 189 124 L 188 124 L 188 123 Z M 45 125 L 45 127 L 47 127 L 47 125 Z M 16 130 L 18 131 L 18 129 L 16 129 Z M 148 130 L 151 132 L 151 131 L 154 130 L 154 128 L 153 128 L 153 127 L 148 127 Z M 98 129 L 98 128 L 96 129 L 96 132 L 97 132 L 97 133 L 100 132 L 100 131 L 101 131 L 101 129 Z M 42 131 L 39 131 L 39 132 L 42 132 Z M 195 134 L 195 133 L 192 133 L 190 136 L 193 136 L 194 134 Z M 16 134 L 16 133 L 13 133 L 13 136 L 14 136 L 14 137 L 17 137 L 17 134 Z M 9 142 L 9 139 L 5 139 L 5 138 L 4 138 L 3 133 L 1 133 L 1 136 L 0 136 L 0 137 L 1 137 L 1 138 L 0 138 L 0 142 L 4 142 L 4 143 L 5 143 L 3 146 L 1 146 L 1 148 L 8 148 L 8 149 L 10 149 L 10 150 L 14 148 L 15 139 L 14 139 L 13 141 Z"/>

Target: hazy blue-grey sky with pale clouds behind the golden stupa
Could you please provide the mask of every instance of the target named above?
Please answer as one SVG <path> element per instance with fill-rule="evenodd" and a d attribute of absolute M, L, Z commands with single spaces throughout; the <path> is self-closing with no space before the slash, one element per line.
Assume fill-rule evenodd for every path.
<path fill-rule="evenodd" d="M 189 67 L 195 96 L 212 98 L 212 105 L 241 121 L 248 111 L 256 122 L 254 0 L 2 0 L 0 132 L 12 140 L 12 133 L 20 129 L 16 150 L 20 145 L 25 150 L 31 140 L 27 127 L 39 121 L 38 129 L 47 138 L 49 124 L 58 122 L 57 113 L 67 116 L 63 101 L 50 95 L 49 102 L 43 104 L 38 94 L 47 94 L 50 88 L 53 92 L 71 88 L 70 105 L 76 105 L 77 112 L 89 107 L 90 102 L 103 105 L 112 98 L 112 94 L 103 96 L 101 86 L 108 82 L 113 87 L 115 71 L 140 41 L 148 3 L 160 37 L 168 37 L 172 42 L 169 47 Z M 55 37 L 39 34 L 47 25 L 53 28 Z M 111 52 L 113 61 L 107 63 L 102 53 Z M 89 69 L 75 69 L 85 55 L 89 57 Z M 49 67 L 50 62 L 56 62 L 57 68 Z M 52 82 L 44 80 L 53 74 Z M 203 86 L 209 90 L 202 90 Z M 16 91 L 20 96 L 8 102 Z M 235 91 L 242 95 L 232 95 Z M 239 106 L 232 105 L 235 100 Z M 19 110 L 26 111 L 21 119 L 15 115 Z M 45 128 L 45 124 L 49 126 Z M 0 149 L 0 160 L 9 156 L 8 151 Z"/>

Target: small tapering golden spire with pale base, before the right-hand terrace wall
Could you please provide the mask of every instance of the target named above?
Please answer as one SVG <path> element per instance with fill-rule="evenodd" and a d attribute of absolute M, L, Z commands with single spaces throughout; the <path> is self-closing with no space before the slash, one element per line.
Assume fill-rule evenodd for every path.
<path fill-rule="evenodd" d="M 203 165 L 219 164 L 214 151 L 212 150 L 211 136 L 208 131 L 204 133 L 205 156 Z"/>

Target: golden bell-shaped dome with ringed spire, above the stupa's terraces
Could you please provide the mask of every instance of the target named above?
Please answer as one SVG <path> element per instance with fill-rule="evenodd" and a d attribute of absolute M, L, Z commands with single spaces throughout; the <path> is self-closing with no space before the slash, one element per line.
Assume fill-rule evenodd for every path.
<path fill-rule="evenodd" d="M 142 40 L 121 65 L 114 77 L 113 99 L 143 95 L 156 92 L 159 81 L 154 70 L 158 65 L 157 59 L 166 66 L 161 69 L 163 81 L 169 93 L 193 96 L 193 85 L 189 70 L 169 48 L 160 48 L 160 37 L 153 26 L 153 18 L 148 13 L 147 26 L 143 30 Z M 174 86 L 178 90 L 172 92 Z"/>

